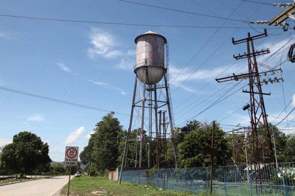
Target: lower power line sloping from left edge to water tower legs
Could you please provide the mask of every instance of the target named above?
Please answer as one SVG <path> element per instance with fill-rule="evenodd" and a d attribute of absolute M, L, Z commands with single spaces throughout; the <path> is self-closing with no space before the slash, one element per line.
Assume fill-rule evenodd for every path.
<path fill-rule="evenodd" d="M 91 106 L 87 106 L 87 105 L 81 105 L 81 104 L 77 104 L 77 103 L 73 103 L 73 102 L 67 102 L 67 101 L 63 101 L 63 100 L 59 100 L 59 99 L 55 99 L 55 98 L 43 97 L 43 96 L 39 96 L 39 95 L 31 94 L 31 93 L 26 93 L 26 92 L 22 92 L 22 91 L 17 91 L 17 90 L 13 90 L 13 89 L 8 89 L 8 88 L 4 88 L 4 87 L 0 87 L 0 89 L 4 90 L 4 91 L 9 91 L 12 93 L 18 93 L 18 94 L 22 94 L 22 95 L 26 95 L 26 96 L 31 96 L 34 98 L 42 98 L 42 99 L 46 99 L 46 100 L 50 100 L 50 101 L 63 103 L 63 104 L 73 105 L 73 106 L 77 106 L 77 107 L 83 107 L 83 108 L 87 108 L 87 109 L 91 109 L 91 110 L 97 110 L 97 111 L 108 112 L 108 113 L 112 112 L 109 110 L 104 110 L 104 109 L 91 107 Z M 124 113 L 120 113 L 120 112 L 115 112 L 115 113 L 118 115 L 122 115 L 122 116 L 130 116 L 129 114 L 124 114 Z"/>

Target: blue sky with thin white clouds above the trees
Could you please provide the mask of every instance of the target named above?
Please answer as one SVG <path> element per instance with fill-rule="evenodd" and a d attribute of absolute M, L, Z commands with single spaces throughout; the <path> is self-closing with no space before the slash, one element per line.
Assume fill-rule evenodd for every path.
<path fill-rule="evenodd" d="M 264 97 L 268 121 L 279 123 L 286 134 L 294 133 L 295 65 L 285 62 L 294 43 L 294 21 L 288 19 L 286 32 L 281 26 L 252 24 L 251 28 L 242 22 L 269 21 L 285 8 L 263 0 L 259 2 L 268 4 L 245 0 L 134 2 L 141 4 L 0 0 L 0 146 L 10 143 L 13 135 L 30 131 L 50 145 L 52 160 L 63 161 L 65 147 L 77 146 L 81 152 L 95 124 L 110 111 L 115 111 L 127 129 L 135 80 L 134 39 L 150 29 L 169 42 L 175 125 L 182 127 L 192 119 L 215 120 L 229 131 L 237 124 L 249 125 L 249 115 L 241 109 L 250 99 L 242 89 L 249 87 L 246 80 L 217 83 L 215 78 L 246 73 L 247 60 L 233 58 L 246 51 L 246 44 L 233 45 L 232 37 L 243 39 L 248 32 L 257 35 L 267 28 L 268 36 L 254 42 L 257 50 L 270 50 L 257 58 L 265 65 L 259 69 L 281 68 L 284 78 L 283 83 L 263 86 L 265 93 L 271 92 Z M 207 109 L 218 98 L 225 99 Z"/>

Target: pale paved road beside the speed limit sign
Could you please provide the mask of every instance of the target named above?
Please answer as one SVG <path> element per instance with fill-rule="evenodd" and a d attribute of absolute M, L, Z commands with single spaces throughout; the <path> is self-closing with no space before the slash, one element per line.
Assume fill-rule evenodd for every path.
<path fill-rule="evenodd" d="M 9 184 L 0 186 L 0 196 L 54 196 L 68 181 L 69 176 L 65 175 Z"/>

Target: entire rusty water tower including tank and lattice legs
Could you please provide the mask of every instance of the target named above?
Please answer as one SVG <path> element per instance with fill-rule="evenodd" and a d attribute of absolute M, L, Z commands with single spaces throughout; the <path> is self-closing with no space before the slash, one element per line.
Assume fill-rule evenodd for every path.
<path fill-rule="evenodd" d="M 130 167 L 127 164 L 129 155 L 129 157 L 135 157 L 135 161 L 132 163 L 134 164 L 133 167 L 142 167 L 143 157 L 148 157 L 149 168 L 156 166 L 159 169 L 160 167 L 168 168 L 173 166 L 177 169 L 172 106 L 167 82 L 168 43 L 164 36 L 152 30 L 136 37 L 135 43 L 137 46 L 136 65 L 134 67 L 136 77 L 122 167 Z M 168 117 L 166 117 L 167 112 Z M 138 130 L 135 139 L 130 137 L 132 130 Z M 144 131 L 146 134 L 144 134 Z M 148 140 L 148 146 L 143 144 L 144 140 Z M 130 150 L 131 142 L 139 143 L 139 149 L 136 147 L 136 152 Z M 151 156 L 155 149 L 151 147 L 152 142 L 153 144 L 156 143 L 156 160 Z M 173 146 L 174 163 L 167 160 L 167 144 L 169 142 Z M 144 148 L 148 148 L 148 150 L 144 150 Z M 145 152 L 143 153 L 143 151 Z"/>

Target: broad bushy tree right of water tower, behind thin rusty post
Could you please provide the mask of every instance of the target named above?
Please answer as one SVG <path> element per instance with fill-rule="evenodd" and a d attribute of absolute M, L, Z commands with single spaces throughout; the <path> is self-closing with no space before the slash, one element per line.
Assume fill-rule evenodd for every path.
<path fill-rule="evenodd" d="M 203 148 L 211 147 L 212 125 L 200 123 L 195 130 L 191 130 L 183 138 L 179 145 L 178 166 L 179 168 L 206 167 L 210 162 L 209 157 L 203 156 Z M 215 165 L 227 165 L 232 153 L 227 146 L 227 140 L 223 130 L 215 126 L 214 147 L 217 149 L 217 155 L 213 158 Z"/>

